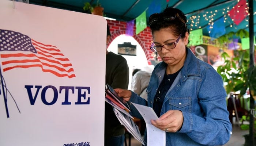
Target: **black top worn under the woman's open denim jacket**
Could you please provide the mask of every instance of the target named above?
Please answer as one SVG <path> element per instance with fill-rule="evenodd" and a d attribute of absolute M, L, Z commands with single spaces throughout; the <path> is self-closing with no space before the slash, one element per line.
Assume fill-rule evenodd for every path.
<path fill-rule="evenodd" d="M 178 70 L 176 73 L 173 73 L 173 74 L 165 73 L 165 76 L 163 77 L 163 80 L 160 86 L 158 87 L 157 93 L 154 98 L 154 104 L 153 104 L 153 110 L 155 111 L 158 117 L 160 117 L 160 114 L 161 114 L 161 109 L 163 106 L 163 100 L 165 99 L 165 95 L 167 91 L 170 89 L 170 87 L 172 86 L 180 70 Z"/>

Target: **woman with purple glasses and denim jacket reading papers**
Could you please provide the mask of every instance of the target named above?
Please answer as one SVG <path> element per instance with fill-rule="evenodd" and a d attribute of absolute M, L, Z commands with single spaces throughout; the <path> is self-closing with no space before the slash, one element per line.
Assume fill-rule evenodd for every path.
<path fill-rule="evenodd" d="M 148 101 L 136 93 L 115 89 L 132 103 L 152 107 L 159 119 L 151 123 L 166 131 L 166 146 L 224 145 L 232 126 L 221 76 L 186 47 L 187 18 L 166 8 L 149 18 L 154 43 L 150 49 L 162 59 L 147 87 Z M 130 103 L 131 105 L 131 103 Z M 131 105 L 133 116 L 141 118 Z M 144 135 L 146 138 L 146 132 Z"/>

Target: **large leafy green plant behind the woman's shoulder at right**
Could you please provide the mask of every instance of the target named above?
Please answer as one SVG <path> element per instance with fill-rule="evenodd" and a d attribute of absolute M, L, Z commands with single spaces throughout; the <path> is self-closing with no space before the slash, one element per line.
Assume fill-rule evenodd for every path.
<path fill-rule="evenodd" d="M 218 41 L 220 45 L 225 45 L 229 43 L 234 36 L 240 39 L 248 38 L 249 32 L 245 30 L 239 30 L 237 33 L 230 32 L 218 38 Z M 222 76 L 223 82 L 227 82 L 225 85 L 227 94 L 232 91 L 240 91 L 239 97 L 242 97 L 246 93 L 246 90 L 249 89 L 250 95 L 256 97 L 256 67 L 249 65 L 249 54 L 249 50 L 234 50 L 234 56 L 232 57 L 225 53 L 225 51 L 221 54 L 221 57 L 224 59 L 224 64 L 217 68 L 217 72 Z M 244 126 L 245 125 L 242 124 L 241 128 L 245 128 Z M 255 133 L 255 128 L 253 132 Z M 251 145 L 251 142 L 248 142 L 250 139 L 247 139 L 249 138 L 249 134 L 244 135 L 244 137 L 246 140 L 245 145 Z"/>

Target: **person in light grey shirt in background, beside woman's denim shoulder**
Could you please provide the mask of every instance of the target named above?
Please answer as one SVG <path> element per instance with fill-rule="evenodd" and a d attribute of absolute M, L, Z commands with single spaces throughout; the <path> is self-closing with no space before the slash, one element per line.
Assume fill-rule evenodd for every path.
<path fill-rule="evenodd" d="M 140 97 L 147 100 L 147 86 L 151 73 L 141 69 L 134 69 L 132 72 L 131 91 L 137 93 Z"/>

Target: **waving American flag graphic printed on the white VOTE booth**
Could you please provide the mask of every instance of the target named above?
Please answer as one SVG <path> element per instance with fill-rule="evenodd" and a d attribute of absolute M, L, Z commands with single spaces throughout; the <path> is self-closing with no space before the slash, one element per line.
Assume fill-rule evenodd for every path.
<path fill-rule="evenodd" d="M 53 45 L 35 41 L 27 35 L 0 29 L 1 68 L 6 72 L 15 68 L 39 67 L 57 77 L 75 77 L 69 59 Z"/>

